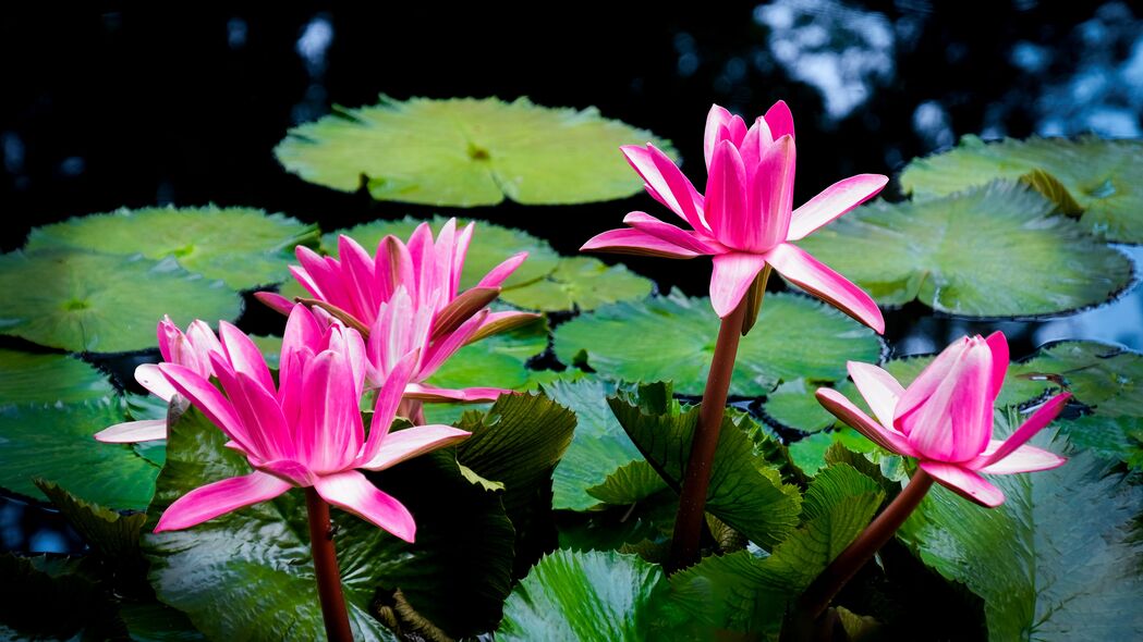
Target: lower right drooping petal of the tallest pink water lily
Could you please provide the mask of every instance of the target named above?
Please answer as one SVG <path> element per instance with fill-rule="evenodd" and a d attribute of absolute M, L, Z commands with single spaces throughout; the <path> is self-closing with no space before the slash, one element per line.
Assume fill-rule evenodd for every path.
<path fill-rule="evenodd" d="M 877 334 L 885 332 L 885 319 L 873 299 L 801 248 L 781 243 L 764 256 L 788 281 L 869 326 Z"/>

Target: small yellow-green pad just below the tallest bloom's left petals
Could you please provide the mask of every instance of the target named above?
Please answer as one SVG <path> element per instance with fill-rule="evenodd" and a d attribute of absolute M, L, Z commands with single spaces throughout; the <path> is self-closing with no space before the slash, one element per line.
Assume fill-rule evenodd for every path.
<path fill-rule="evenodd" d="M 501 298 L 525 310 L 589 311 L 608 303 L 641 299 L 654 289 L 652 280 L 622 264 L 609 266 L 596 258 L 576 256 L 560 259 L 551 274 L 521 288 L 505 290 Z"/>

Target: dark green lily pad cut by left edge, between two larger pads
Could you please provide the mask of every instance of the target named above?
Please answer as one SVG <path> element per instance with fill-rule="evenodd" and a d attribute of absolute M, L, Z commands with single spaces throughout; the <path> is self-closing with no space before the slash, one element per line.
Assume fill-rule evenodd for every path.
<path fill-rule="evenodd" d="M 106 375 L 74 356 L 0 350 L 0 406 L 79 403 L 114 393 Z"/>

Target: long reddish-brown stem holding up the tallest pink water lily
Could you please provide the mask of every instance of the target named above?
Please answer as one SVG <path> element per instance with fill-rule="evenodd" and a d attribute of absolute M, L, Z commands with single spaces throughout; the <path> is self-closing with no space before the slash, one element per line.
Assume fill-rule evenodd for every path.
<path fill-rule="evenodd" d="M 698 409 L 698 424 L 690 442 L 690 458 L 682 475 L 679 497 L 679 514 L 674 520 L 671 540 L 671 556 L 668 570 L 685 569 L 698 561 L 698 544 L 703 535 L 703 516 L 706 509 L 706 490 L 711 484 L 711 465 L 718 446 L 719 428 L 726 412 L 726 395 L 730 390 L 730 375 L 742 338 L 742 320 L 746 314 L 746 299 L 722 319 L 714 344 L 714 358 L 706 376 L 706 390 Z"/>

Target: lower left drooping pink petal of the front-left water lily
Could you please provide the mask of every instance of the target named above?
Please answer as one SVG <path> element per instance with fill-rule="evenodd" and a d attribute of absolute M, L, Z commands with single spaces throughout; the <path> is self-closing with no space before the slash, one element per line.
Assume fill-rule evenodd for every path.
<path fill-rule="evenodd" d="M 154 532 L 191 528 L 223 513 L 273 499 L 290 488 L 289 482 L 259 472 L 209 483 L 168 506 L 159 517 Z"/>

